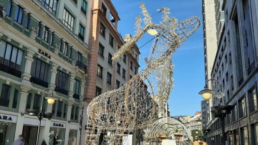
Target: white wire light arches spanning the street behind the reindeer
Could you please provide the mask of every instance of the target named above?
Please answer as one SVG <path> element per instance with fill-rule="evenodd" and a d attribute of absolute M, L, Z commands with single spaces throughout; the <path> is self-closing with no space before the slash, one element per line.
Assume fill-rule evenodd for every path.
<path fill-rule="evenodd" d="M 184 123 L 174 117 L 161 117 L 144 129 L 146 144 L 159 144 L 162 139 L 175 139 L 175 134 L 182 134 L 191 140 L 191 131 Z"/>

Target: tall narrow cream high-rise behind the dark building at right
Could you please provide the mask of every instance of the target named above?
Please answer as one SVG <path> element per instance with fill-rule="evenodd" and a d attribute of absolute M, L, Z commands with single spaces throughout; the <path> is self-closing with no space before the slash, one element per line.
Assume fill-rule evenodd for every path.
<path fill-rule="evenodd" d="M 202 0 L 202 16 L 203 16 L 203 48 L 204 48 L 204 69 L 205 82 L 211 79 L 211 70 L 214 63 L 217 47 L 216 36 L 216 19 L 215 19 L 215 3 L 214 0 Z M 211 81 L 207 84 L 211 88 Z M 212 108 L 212 99 L 209 100 L 208 109 Z M 208 114 L 208 120 L 211 114 Z"/>

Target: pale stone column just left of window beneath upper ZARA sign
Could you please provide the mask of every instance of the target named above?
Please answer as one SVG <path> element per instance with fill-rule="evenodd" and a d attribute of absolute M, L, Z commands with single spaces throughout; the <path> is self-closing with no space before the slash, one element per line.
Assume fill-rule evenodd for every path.
<path fill-rule="evenodd" d="M 25 64 L 25 69 L 23 73 L 23 80 L 25 81 L 30 81 L 30 70 L 31 70 L 31 64 L 34 61 L 33 55 L 35 52 L 31 50 L 30 48 L 27 49 L 27 55 L 25 57 L 26 59 L 26 64 Z"/>

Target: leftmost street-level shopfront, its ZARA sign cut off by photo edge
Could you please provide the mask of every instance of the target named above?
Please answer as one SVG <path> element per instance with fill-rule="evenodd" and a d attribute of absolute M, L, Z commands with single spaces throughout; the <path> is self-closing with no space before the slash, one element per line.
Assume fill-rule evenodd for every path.
<path fill-rule="evenodd" d="M 0 113 L 0 145 L 11 145 L 14 141 L 17 116 Z"/>

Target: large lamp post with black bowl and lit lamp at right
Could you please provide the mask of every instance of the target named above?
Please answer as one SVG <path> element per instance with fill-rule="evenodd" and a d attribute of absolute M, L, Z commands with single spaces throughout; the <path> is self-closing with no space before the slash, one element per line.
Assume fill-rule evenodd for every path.
<path fill-rule="evenodd" d="M 223 145 L 226 145 L 226 139 L 225 139 L 225 127 L 224 127 L 224 117 L 226 114 L 230 114 L 231 110 L 234 108 L 233 105 L 223 105 L 222 101 L 225 97 L 225 94 L 221 92 L 220 88 L 220 82 L 216 79 L 209 79 L 208 81 L 216 81 L 219 84 L 219 92 L 215 95 L 216 98 L 219 99 L 220 103 L 217 106 L 214 106 L 213 108 L 215 110 L 211 111 L 215 115 L 215 117 L 221 118 L 221 126 L 222 126 L 222 135 L 223 135 Z M 208 89 L 208 81 L 206 81 L 204 90 L 200 91 L 199 94 L 202 95 L 203 99 L 209 100 L 211 98 L 211 95 L 214 93 L 213 90 Z"/>

